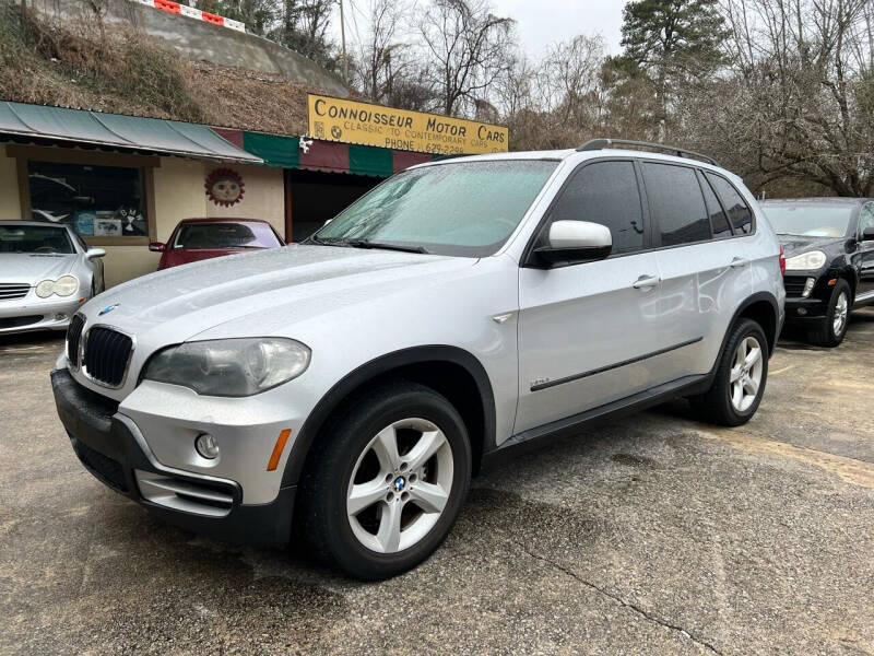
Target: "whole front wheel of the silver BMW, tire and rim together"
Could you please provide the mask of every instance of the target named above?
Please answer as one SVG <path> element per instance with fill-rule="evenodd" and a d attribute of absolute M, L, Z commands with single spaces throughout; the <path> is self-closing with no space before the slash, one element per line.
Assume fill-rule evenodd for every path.
<path fill-rule="evenodd" d="M 319 438 L 299 516 L 315 553 L 363 579 L 414 567 L 444 541 L 471 478 L 459 413 L 422 385 L 362 397 Z"/>

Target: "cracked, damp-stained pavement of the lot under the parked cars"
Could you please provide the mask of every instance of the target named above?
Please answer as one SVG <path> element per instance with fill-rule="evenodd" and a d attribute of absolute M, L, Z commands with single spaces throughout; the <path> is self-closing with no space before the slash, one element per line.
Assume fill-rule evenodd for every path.
<path fill-rule="evenodd" d="M 203 540 L 75 459 L 58 337 L 0 338 L 2 654 L 874 654 L 874 312 L 781 342 L 746 426 L 684 402 L 473 482 L 413 572 Z"/>

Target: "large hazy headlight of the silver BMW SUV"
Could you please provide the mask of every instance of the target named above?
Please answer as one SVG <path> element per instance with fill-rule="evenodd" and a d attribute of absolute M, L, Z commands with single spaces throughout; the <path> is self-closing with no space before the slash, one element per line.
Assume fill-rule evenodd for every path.
<path fill-rule="evenodd" d="M 285 338 L 186 342 L 153 355 L 143 378 L 208 396 L 246 397 L 296 378 L 310 354 L 309 347 Z"/>

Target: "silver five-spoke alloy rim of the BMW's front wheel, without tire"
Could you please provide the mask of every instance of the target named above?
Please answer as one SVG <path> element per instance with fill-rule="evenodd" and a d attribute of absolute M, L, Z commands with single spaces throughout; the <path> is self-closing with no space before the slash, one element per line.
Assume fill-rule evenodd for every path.
<path fill-rule="evenodd" d="M 449 501 L 452 447 L 425 419 L 386 426 L 358 456 L 346 492 L 352 532 L 367 549 L 398 553 L 430 532 Z"/>

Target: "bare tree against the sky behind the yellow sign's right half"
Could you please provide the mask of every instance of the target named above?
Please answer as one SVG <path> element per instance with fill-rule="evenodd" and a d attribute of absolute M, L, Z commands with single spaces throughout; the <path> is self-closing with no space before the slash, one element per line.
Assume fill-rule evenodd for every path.
<path fill-rule="evenodd" d="M 418 23 L 428 66 L 424 79 L 447 115 L 472 114 L 510 65 L 513 21 L 487 0 L 432 0 Z"/>

